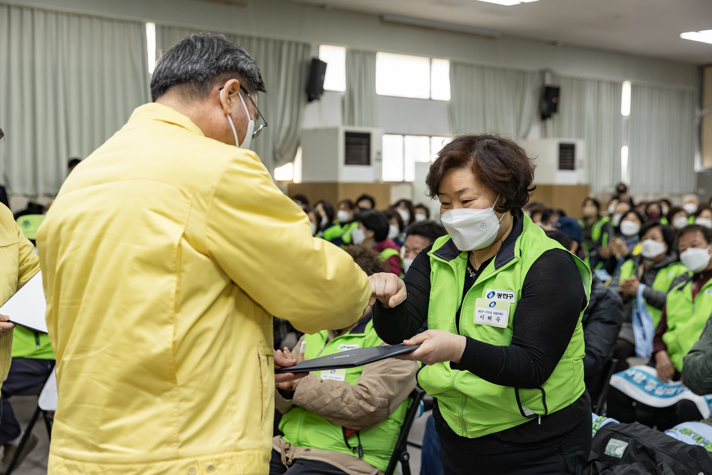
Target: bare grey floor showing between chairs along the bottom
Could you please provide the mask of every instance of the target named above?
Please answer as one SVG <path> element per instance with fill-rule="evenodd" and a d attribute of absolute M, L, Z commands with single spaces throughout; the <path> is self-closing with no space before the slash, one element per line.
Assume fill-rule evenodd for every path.
<path fill-rule="evenodd" d="M 15 417 L 20 422 L 21 427 L 27 427 L 27 423 L 32 417 L 32 413 L 37 407 L 36 396 L 14 396 L 10 398 L 10 403 L 15 412 Z M 425 421 L 430 412 L 425 412 L 421 417 L 413 422 L 410 430 L 409 440 L 421 443 L 425 432 Z M 47 457 L 49 454 L 49 439 L 42 417 L 40 416 L 32 430 L 32 433 L 39 439 L 37 447 L 31 451 L 22 464 L 12 473 L 13 475 L 46 475 Z M 420 474 L 420 449 L 408 447 L 410 453 L 410 469 L 412 475 Z"/>

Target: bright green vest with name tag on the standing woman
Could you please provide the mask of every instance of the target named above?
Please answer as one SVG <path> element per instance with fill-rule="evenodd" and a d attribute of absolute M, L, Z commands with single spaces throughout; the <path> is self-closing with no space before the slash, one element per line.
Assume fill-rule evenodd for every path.
<path fill-rule="evenodd" d="M 458 333 L 455 315 L 461 306 L 459 335 L 467 335 L 491 345 L 510 345 L 513 315 L 517 301 L 522 296 L 522 284 L 529 268 L 543 252 L 564 249 L 557 241 L 549 239 L 543 229 L 533 224 L 529 216 L 523 216 L 523 221 L 519 223 L 515 221 L 513 232 L 517 227 L 520 235 L 516 241 L 508 244 L 506 249 L 500 249 L 462 302 L 468 254 L 456 249 L 450 236 L 436 239 L 428 253 L 431 264 L 428 328 Z M 573 254 L 572 257 L 588 298 L 591 271 L 583 261 Z M 553 293 L 551 298 L 555 299 L 556 294 Z M 507 310 L 506 306 L 508 318 L 505 328 L 475 323 L 476 318 L 484 318 L 488 312 L 499 308 Z M 452 370 L 450 362 L 422 367 L 418 374 L 419 385 L 429 395 L 437 397 L 444 419 L 456 434 L 463 437 L 481 437 L 500 432 L 567 407 L 585 390 L 582 314 L 579 314 L 564 355 L 541 388 L 495 385 L 469 371 Z M 487 318 L 496 318 L 494 315 L 497 313 Z"/>

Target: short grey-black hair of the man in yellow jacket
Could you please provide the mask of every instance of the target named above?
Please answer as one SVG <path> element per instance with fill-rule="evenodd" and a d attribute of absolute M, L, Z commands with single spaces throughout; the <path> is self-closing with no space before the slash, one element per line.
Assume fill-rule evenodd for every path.
<path fill-rule="evenodd" d="M 239 75 L 240 83 L 253 92 L 267 92 L 255 60 L 243 48 L 222 35 L 195 33 L 184 38 L 158 61 L 151 79 L 151 98 L 156 100 L 174 85 L 185 85 L 192 99 L 209 95 L 215 83 Z"/>

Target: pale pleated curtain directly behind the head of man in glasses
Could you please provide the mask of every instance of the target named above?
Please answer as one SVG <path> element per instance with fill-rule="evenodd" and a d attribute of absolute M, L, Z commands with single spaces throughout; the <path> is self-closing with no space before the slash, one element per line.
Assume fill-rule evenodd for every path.
<path fill-rule="evenodd" d="M 157 25 L 158 54 L 198 32 L 194 28 Z M 275 167 L 292 162 L 297 153 L 307 103 L 305 89 L 311 45 L 258 36 L 224 35 L 255 58 L 265 81 L 267 93 L 259 95 L 257 107 L 268 127 L 252 142 L 251 148 L 272 172 Z"/>

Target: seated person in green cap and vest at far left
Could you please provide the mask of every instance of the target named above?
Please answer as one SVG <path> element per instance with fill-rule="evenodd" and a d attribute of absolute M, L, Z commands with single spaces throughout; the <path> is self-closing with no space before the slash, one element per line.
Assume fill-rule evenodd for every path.
<path fill-rule="evenodd" d="M 16 219 L 22 234 L 32 244 L 37 229 L 44 220 L 44 214 L 25 214 Z M 19 445 L 20 424 L 15 418 L 9 397 L 30 387 L 44 385 L 54 368 L 55 357 L 49 343 L 49 336 L 16 325 L 12 336 L 12 353 L 7 380 L 2 385 L 2 417 L 0 419 L 0 445 L 4 447 L 0 470 L 5 471 Z M 30 434 L 23 451 L 16 462 L 18 466 L 37 445 L 37 437 Z"/>

